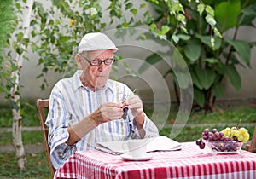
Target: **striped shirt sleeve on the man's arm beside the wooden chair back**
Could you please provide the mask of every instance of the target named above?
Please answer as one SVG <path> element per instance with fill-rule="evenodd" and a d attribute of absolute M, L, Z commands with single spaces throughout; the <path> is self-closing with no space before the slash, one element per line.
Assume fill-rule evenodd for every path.
<path fill-rule="evenodd" d="M 49 97 L 49 113 L 46 125 L 49 126 L 48 144 L 50 159 L 55 169 L 58 169 L 76 150 L 76 147 L 68 146 L 69 137 L 67 131 L 70 115 L 67 112 L 61 91 L 55 87 Z"/>

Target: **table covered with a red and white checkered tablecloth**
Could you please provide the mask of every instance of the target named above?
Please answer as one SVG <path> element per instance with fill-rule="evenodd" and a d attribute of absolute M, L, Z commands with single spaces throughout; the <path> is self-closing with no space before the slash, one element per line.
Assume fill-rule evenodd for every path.
<path fill-rule="evenodd" d="M 256 178 L 256 153 L 218 154 L 195 142 L 182 143 L 180 151 L 152 153 L 148 161 L 124 161 L 98 150 L 75 152 L 55 178 Z"/>

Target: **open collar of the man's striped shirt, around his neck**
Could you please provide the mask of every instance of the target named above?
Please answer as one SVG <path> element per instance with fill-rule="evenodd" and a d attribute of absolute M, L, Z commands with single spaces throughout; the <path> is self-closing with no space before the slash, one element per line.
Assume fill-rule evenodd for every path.
<path fill-rule="evenodd" d="M 78 70 L 77 72 L 74 73 L 73 75 L 73 90 L 79 90 L 79 88 L 85 88 L 88 91 L 93 91 L 91 90 L 89 87 L 84 86 L 84 84 L 82 84 L 81 80 L 80 80 L 80 75 L 82 74 L 82 70 Z M 113 92 L 113 80 L 108 79 L 107 83 L 102 87 L 102 89 L 100 90 L 111 90 Z"/>

